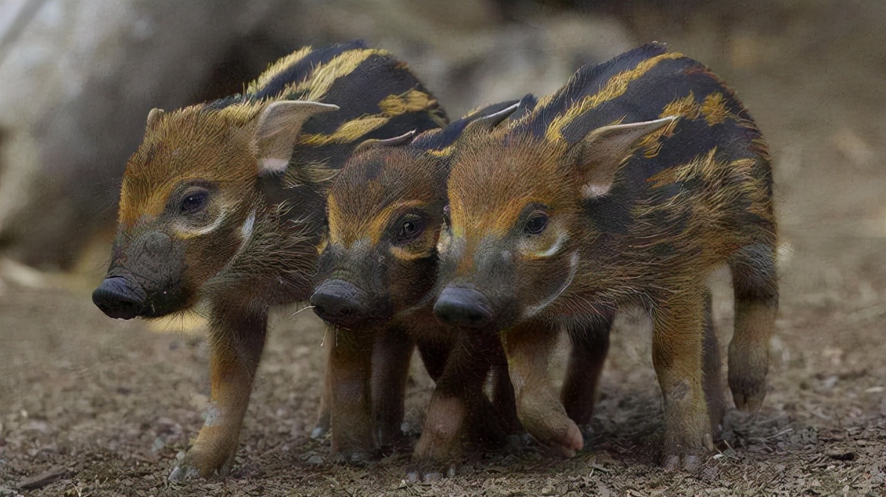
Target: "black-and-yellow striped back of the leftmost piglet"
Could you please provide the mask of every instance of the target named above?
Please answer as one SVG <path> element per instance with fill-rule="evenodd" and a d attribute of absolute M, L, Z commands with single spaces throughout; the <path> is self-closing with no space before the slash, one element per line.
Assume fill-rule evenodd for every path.
<path fill-rule="evenodd" d="M 385 50 L 362 41 L 321 49 L 305 47 L 278 60 L 251 82 L 245 93 L 204 105 L 207 112 L 257 109 L 268 100 L 315 100 L 335 104 L 335 113 L 307 120 L 299 144 L 338 148 L 369 138 L 395 136 L 417 128 L 439 128 L 446 113 L 408 66 Z"/>

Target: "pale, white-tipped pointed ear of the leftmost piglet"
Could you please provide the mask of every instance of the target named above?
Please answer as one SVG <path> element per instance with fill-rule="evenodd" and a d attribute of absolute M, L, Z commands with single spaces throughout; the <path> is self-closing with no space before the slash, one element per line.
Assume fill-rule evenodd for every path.
<path fill-rule="evenodd" d="M 302 125 L 311 116 L 330 111 L 338 111 L 338 105 L 307 100 L 284 100 L 265 107 L 259 115 L 259 122 L 255 128 L 255 144 L 259 149 L 259 173 L 285 171 Z"/>

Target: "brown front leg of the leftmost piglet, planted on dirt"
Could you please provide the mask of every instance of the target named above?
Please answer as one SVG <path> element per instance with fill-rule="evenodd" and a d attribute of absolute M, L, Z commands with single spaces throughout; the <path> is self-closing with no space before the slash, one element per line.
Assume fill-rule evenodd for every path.
<path fill-rule="evenodd" d="M 169 475 L 170 480 L 225 476 L 230 470 L 267 325 L 265 308 L 215 307 L 209 334 L 212 392 L 206 423 L 193 447 Z"/>

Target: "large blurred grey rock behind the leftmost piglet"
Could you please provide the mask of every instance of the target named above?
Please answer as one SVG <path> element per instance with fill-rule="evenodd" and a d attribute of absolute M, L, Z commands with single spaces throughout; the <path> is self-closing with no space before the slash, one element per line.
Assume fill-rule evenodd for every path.
<path fill-rule="evenodd" d="M 113 219 L 120 176 L 147 112 L 211 93 L 214 71 L 241 44 L 264 55 L 250 74 L 284 53 L 255 40 L 280 4 L 4 4 L 2 17 L 13 19 L 5 33 L 18 35 L 0 34 L 0 245 L 29 264 L 69 266 Z"/>

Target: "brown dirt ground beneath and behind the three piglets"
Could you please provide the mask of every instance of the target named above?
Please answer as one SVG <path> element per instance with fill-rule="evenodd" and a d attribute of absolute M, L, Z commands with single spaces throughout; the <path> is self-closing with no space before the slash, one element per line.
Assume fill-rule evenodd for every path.
<path fill-rule="evenodd" d="M 201 335 L 111 321 L 86 284 L 22 284 L 41 276 L 5 263 L 19 277 L 0 279 L 0 496 L 886 495 L 883 9 L 836 4 L 753 23 L 634 21 L 638 38 L 669 42 L 722 74 L 775 159 L 781 311 L 766 405 L 752 417 L 729 413 L 701 475 L 655 465 L 662 409 L 649 323 L 638 315 L 617 323 L 595 435 L 571 460 L 529 444 L 473 457 L 430 484 L 404 480 L 406 454 L 333 465 L 328 440 L 308 435 L 323 329 L 309 312 L 281 309 L 232 475 L 170 484 L 206 406 Z M 728 288 L 715 282 L 721 346 L 732 328 Z M 417 437 L 431 383 L 414 376 L 407 422 Z"/>

